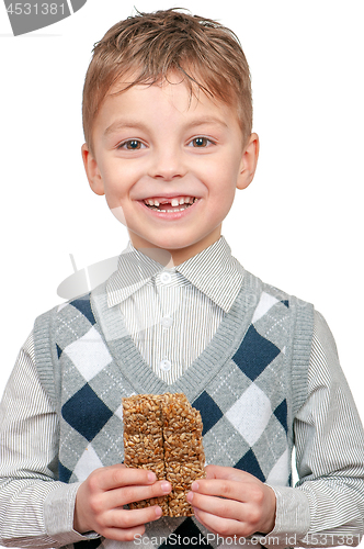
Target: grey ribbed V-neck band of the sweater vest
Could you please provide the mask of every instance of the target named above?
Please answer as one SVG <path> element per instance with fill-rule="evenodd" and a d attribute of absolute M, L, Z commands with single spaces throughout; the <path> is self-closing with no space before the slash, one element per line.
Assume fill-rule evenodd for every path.
<path fill-rule="evenodd" d="M 174 383 L 167 384 L 144 360 L 126 330 L 118 306 L 109 307 L 105 284 L 91 293 L 91 304 L 111 355 L 136 393 L 161 394 L 182 392 L 190 402 L 201 394 L 208 381 L 237 351 L 254 312 L 252 293 L 261 282 L 244 271 L 243 283 L 229 313 L 223 318 L 216 334 L 186 372 Z M 260 293 L 260 292 L 259 292 Z"/>

